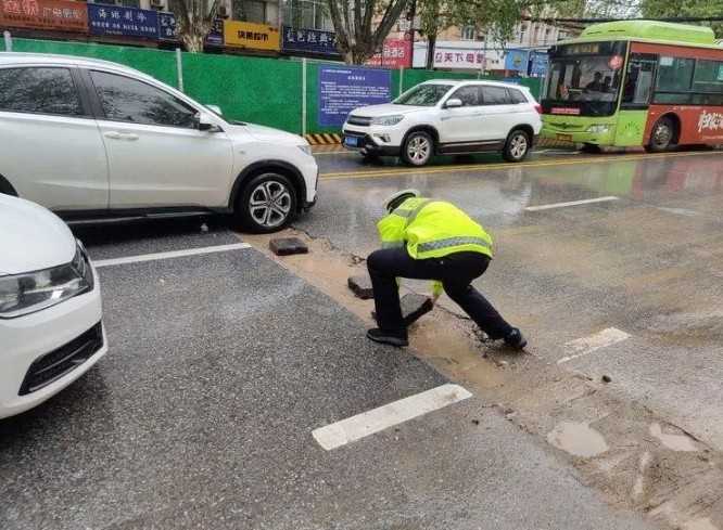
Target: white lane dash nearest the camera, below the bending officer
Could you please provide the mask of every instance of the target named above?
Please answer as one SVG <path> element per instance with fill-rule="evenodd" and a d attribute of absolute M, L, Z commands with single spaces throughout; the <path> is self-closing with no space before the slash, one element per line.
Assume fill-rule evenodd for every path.
<path fill-rule="evenodd" d="M 471 396 L 466 388 L 448 383 L 319 427 L 312 432 L 312 436 L 319 445 L 330 451 Z"/>

